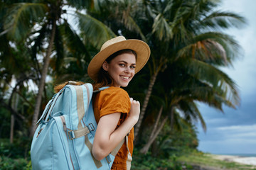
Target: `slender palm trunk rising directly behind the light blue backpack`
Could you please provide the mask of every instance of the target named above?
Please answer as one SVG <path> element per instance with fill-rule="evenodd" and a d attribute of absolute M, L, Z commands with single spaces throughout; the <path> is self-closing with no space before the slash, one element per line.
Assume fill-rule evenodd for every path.
<path fill-rule="evenodd" d="M 43 64 L 43 70 L 42 70 L 39 89 L 38 89 L 38 96 L 36 98 L 36 106 L 35 106 L 35 111 L 34 111 L 34 114 L 33 114 L 33 119 L 32 119 L 32 124 L 31 124 L 30 137 L 33 137 L 33 133 L 36 131 L 36 122 L 38 120 L 38 116 L 39 116 L 39 112 L 40 112 L 40 108 L 41 108 L 43 89 L 44 89 L 44 86 L 46 84 L 46 75 L 47 75 L 48 66 L 49 66 L 49 63 L 50 63 L 51 51 L 53 49 L 53 41 L 54 41 L 54 38 L 55 38 L 55 30 L 56 30 L 56 21 L 53 20 L 53 29 L 51 30 L 51 33 L 50 33 L 50 42 L 49 42 L 49 45 L 48 45 L 48 50 L 46 52 L 46 57 L 45 57 L 44 64 Z"/>

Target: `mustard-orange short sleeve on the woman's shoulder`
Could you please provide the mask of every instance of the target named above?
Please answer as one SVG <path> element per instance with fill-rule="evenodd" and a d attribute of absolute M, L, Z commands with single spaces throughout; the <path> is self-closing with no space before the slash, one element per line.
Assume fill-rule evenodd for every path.
<path fill-rule="evenodd" d="M 111 113 L 129 113 L 131 102 L 124 89 L 110 87 L 100 94 L 100 118 Z"/>

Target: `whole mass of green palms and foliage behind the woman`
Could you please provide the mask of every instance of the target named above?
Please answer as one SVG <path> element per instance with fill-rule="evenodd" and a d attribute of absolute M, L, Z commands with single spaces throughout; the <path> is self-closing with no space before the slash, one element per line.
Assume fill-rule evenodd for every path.
<path fill-rule="evenodd" d="M 142 105 L 134 129 L 134 166 L 143 162 L 139 158 L 159 157 L 173 162 L 164 166 L 163 161 L 163 167 L 181 167 L 177 152 L 198 146 L 194 123 L 199 121 L 206 130 L 198 103 L 220 111 L 240 103 L 238 86 L 220 67 L 232 67 L 241 50 L 224 30 L 245 26 L 246 20 L 218 11 L 220 4 L 1 0 L 0 162 L 17 157 L 29 162 L 36 121 L 54 94 L 53 86 L 68 80 L 92 82 L 87 76 L 92 57 L 103 42 L 124 35 L 151 48 L 146 67 L 125 89 Z"/>

